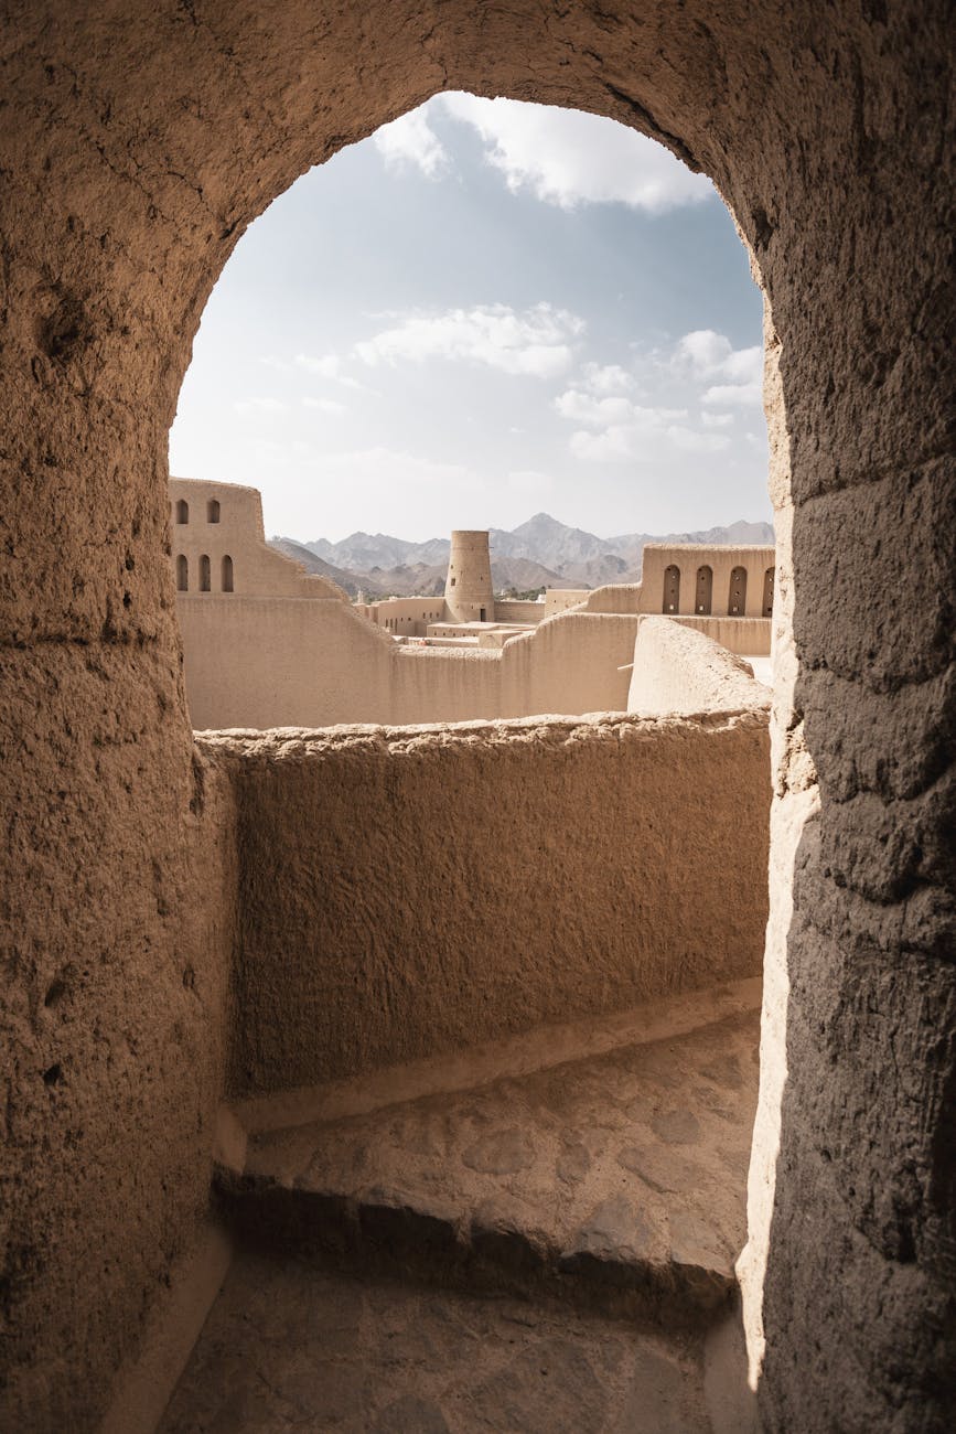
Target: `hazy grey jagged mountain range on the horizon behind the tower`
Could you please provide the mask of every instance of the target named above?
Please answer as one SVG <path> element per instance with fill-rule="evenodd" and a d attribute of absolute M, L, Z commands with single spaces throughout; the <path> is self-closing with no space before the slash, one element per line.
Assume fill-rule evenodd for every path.
<path fill-rule="evenodd" d="M 436 597 L 444 592 L 449 539 L 408 542 L 388 533 L 355 532 L 341 542 L 315 538 L 269 539 L 274 548 L 295 558 L 308 572 L 333 578 L 350 597 L 361 589 L 377 597 Z M 770 523 L 744 519 L 727 528 L 687 533 L 619 533 L 598 538 L 569 528 L 550 513 L 536 513 L 510 532 L 492 528 L 492 581 L 496 592 L 535 588 L 598 588 L 605 582 L 639 582 L 648 542 L 701 542 L 711 546 L 773 543 Z"/>

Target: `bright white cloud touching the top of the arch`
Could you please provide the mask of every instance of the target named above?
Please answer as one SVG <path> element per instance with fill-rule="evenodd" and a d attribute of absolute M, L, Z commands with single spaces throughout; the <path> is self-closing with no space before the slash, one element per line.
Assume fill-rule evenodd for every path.
<path fill-rule="evenodd" d="M 662 145 L 599 115 L 462 93 L 440 103 L 479 132 L 512 192 L 527 188 L 565 209 L 616 201 L 651 214 L 714 194 Z"/>

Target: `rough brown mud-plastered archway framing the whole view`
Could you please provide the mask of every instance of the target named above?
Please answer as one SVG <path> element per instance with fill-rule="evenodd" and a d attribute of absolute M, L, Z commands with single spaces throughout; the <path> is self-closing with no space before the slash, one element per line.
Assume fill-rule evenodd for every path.
<path fill-rule="evenodd" d="M 42 1400 L 52 1423 L 92 1423 L 208 1187 L 228 916 L 195 895 L 212 837 L 163 551 L 166 433 L 199 314 L 298 174 L 460 87 L 661 139 L 714 178 L 760 271 L 778 591 L 742 1265 L 754 1369 L 765 1334 L 771 1428 L 838 1427 L 847 1408 L 867 1428 L 890 1410 L 929 1427 L 952 1369 L 956 1100 L 946 9 L 116 0 L 66 16 L 47 0 L 10 33 L 14 1412 Z M 183 932 L 206 954 L 198 974 Z M 118 1088 L 122 1129 L 103 1104 Z"/>

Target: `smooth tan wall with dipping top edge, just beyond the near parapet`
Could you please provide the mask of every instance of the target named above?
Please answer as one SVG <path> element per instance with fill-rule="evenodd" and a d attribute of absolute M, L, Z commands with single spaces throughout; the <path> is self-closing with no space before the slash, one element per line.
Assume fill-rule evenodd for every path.
<path fill-rule="evenodd" d="M 502 651 L 398 647 L 344 602 L 179 601 L 193 727 L 623 711 L 635 617 L 569 612 Z"/>

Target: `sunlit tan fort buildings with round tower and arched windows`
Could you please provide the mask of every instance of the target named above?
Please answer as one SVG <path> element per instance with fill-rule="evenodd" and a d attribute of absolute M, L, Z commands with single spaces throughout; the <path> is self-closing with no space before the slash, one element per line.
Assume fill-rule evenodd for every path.
<path fill-rule="evenodd" d="M 645 614 L 770 652 L 773 548 L 648 545 L 642 582 L 529 602 L 494 598 L 487 531 L 456 531 L 446 597 L 353 604 L 267 543 L 257 489 L 171 479 L 169 502 L 198 728 L 623 711 Z"/>

